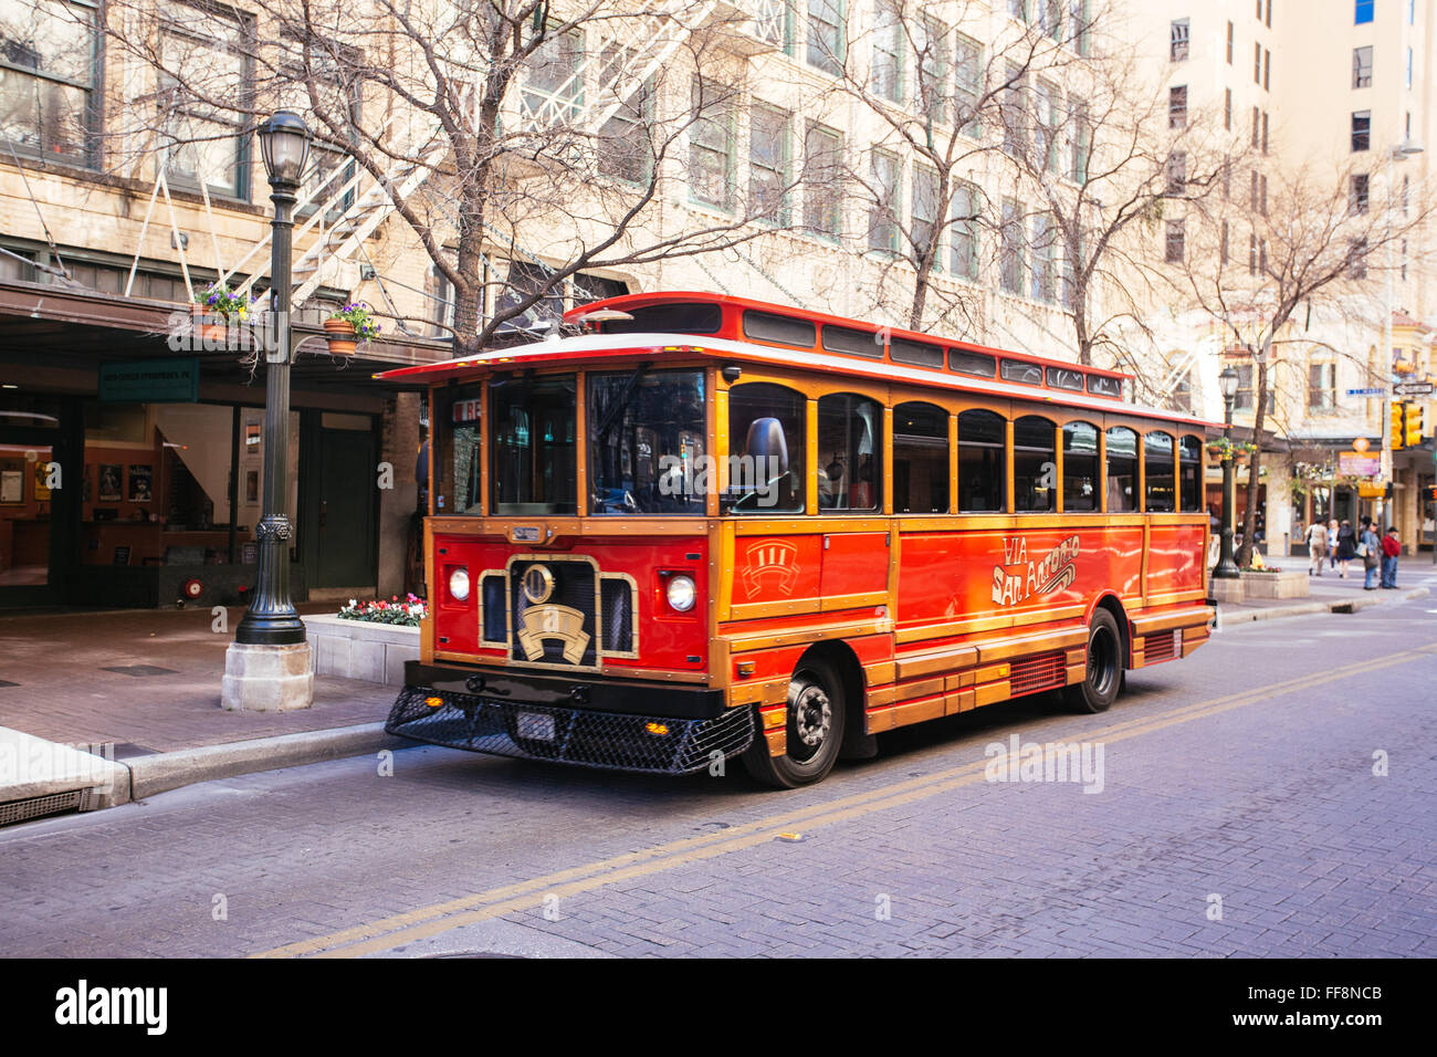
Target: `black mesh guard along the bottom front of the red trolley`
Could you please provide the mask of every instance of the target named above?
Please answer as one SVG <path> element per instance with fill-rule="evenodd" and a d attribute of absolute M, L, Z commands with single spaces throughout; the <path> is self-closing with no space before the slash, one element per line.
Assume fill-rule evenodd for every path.
<path fill-rule="evenodd" d="M 430 708 L 427 697 L 444 703 Z M 714 754 L 743 752 L 754 736 L 750 708 L 717 719 L 670 719 L 516 705 L 418 686 L 404 687 L 384 729 L 470 752 L 661 774 L 701 771 Z"/>

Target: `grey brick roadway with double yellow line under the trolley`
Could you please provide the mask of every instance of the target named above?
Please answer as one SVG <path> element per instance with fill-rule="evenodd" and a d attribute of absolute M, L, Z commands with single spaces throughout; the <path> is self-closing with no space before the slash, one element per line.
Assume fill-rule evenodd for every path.
<path fill-rule="evenodd" d="M 981 709 L 789 794 L 433 748 L 249 775 L 0 831 L 0 951 L 1433 956 L 1434 680 L 1423 598 L 1236 626 L 1104 716 Z M 1102 791 L 984 781 L 1015 733 L 1101 742 Z"/>

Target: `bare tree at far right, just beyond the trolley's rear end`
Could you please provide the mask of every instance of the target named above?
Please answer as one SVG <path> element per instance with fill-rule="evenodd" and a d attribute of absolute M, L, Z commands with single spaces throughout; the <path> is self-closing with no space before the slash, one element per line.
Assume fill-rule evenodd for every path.
<path fill-rule="evenodd" d="M 1191 204 L 1188 230 L 1197 237 L 1175 282 L 1221 326 L 1229 351 L 1250 360 L 1255 374 L 1259 443 L 1247 470 L 1240 565 L 1252 561 L 1269 393 L 1276 371 L 1289 367 L 1286 352 L 1299 344 L 1289 338 L 1299 309 L 1306 315 L 1316 305 L 1329 318 L 1381 325 L 1391 311 L 1384 280 L 1408 265 L 1398 247 L 1405 257 L 1408 242 L 1424 244 L 1415 236 L 1433 216 L 1430 196 L 1385 183 L 1381 196 L 1375 191 L 1374 173 L 1362 164 L 1305 165 L 1253 171 L 1247 194 L 1229 191 Z M 1382 349 L 1384 364 L 1387 355 Z"/>

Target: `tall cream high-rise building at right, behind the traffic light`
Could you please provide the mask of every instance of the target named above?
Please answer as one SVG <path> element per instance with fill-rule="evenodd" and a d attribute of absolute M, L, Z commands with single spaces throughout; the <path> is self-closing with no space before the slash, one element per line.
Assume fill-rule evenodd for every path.
<path fill-rule="evenodd" d="M 1408 209 L 1430 210 L 1418 197 L 1430 194 L 1423 188 L 1431 152 L 1423 147 L 1433 142 L 1437 119 L 1430 4 L 1160 0 L 1129 9 L 1152 76 L 1244 148 L 1226 191 L 1243 207 L 1266 213 L 1269 183 L 1276 188 L 1303 174 L 1319 184 L 1346 174 L 1348 209 L 1371 210 L 1380 239 L 1384 224 L 1407 226 Z M 1420 534 L 1430 544 L 1421 496 L 1433 482 L 1431 401 L 1418 403 L 1423 447 L 1400 447 L 1387 465 L 1382 447 L 1391 439 L 1391 383 L 1433 370 L 1434 249 L 1423 229 L 1392 239 L 1374 252 L 1364 282 L 1316 292 L 1277 332 L 1257 486 L 1270 554 L 1300 545 L 1313 519 L 1357 523 L 1362 515 L 1398 525 L 1410 548 Z M 1259 273 L 1266 266 L 1266 244 L 1239 223 L 1232 232 L 1224 224 L 1220 249 L 1214 242 L 1207 250 L 1250 260 Z M 1217 372 L 1234 365 L 1242 377 L 1234 423 L 1250 430 L 1250 351 L 1210 314 L 1188 306 L 1168 318 L 1158 332 L 1177 365 L 1174 391 L 1201 394 L 1201 410 L 1220 418 Z"/>

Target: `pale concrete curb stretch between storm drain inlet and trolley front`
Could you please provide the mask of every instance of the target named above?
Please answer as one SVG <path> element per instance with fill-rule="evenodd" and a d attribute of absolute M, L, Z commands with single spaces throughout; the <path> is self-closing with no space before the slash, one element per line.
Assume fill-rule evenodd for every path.
<path fill-rule="evenodd" d="M 122 761 L 129 769 L 128 800 L 144 800 L 182 785 L 233 778 L 257 771 L 319 764 L 326 759 L 361 756 L 381 749 L 399 749 L 414 742 L 384 732 L 384 723 L 305 731 L 276 738 L 205 745 L 198 749 L 161 752 Z M 115 801 L 124 802 L 124 801 Z M 108 807 L 108 805 L 106 805 Z"/>

